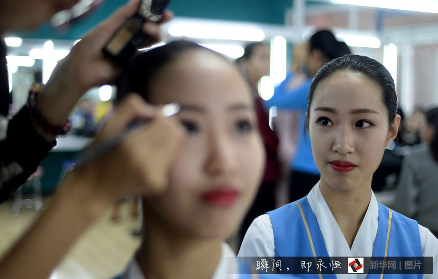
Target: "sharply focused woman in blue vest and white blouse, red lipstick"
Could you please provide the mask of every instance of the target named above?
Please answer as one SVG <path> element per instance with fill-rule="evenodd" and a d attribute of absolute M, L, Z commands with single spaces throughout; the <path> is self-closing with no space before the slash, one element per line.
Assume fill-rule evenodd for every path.
<path fill-rule="evenodd" d="M 320 181 L 306 197 L 256 218 L 238 256 L 433 256 L 436 269 L 437 238 L 377 203 L 371 190 L 383 151 L 397 135 L 396 111 L 394 80 L 376 60 L 346 55 L 323 66 L 310 85 L 306 114 Z"/>

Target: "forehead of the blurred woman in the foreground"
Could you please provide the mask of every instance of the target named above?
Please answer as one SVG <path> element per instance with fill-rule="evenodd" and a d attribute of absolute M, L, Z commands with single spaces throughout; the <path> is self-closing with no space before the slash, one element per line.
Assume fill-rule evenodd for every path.
<path fill-rule="evenodd" d="M 151 86 L 152 103 L 218 106 L 252 102 L 246 80 L 228 61 L 208 51 L 189 51 L 166 65 Z"/>

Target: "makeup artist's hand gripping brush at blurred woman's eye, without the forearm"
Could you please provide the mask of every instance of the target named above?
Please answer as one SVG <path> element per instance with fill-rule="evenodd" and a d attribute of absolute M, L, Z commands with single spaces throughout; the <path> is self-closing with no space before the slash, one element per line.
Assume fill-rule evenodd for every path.
<path fill-rule="evenodd" d="M 177 119 L 164 117 L 159 107 L 146 104 L 138 94 L 127 96 L 117 106 L 95 143 L 111 138 L 137 119 L 150 121 L 132 130 L 118 147 L 77 167 L 69 174 L 73 177 L 66 178 L 67 182 L 76 181 L 71 186 L 82 187 L 100 208 L 128 194 L 158 193 L 167 185 L 167 171 L 184 130 Z"/>

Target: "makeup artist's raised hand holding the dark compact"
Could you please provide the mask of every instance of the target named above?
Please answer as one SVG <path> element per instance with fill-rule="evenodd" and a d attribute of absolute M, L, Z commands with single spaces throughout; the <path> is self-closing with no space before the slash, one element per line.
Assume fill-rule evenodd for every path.
<path fill-rule="evenodd" d="M 104 56 L 102 49 L 123 22 L 135 14 L 138 5 L 139 0 L 132 0 L 118 9 L 73 46 L 67 57 L 59 61 L 37 98 L 38 109 L 52 124 L 62 126 L 78 100 L 92 87 L 114 83 L 122 68 Z M 171 18 L 172 14 L 165 12 L 162 23 Z M 143 27 L 149 35 L 145 46 L 160 41 L 159 24 L 147 22 Z M 36 128 L 47 141 L 54 140 L 53 136 Z"/>

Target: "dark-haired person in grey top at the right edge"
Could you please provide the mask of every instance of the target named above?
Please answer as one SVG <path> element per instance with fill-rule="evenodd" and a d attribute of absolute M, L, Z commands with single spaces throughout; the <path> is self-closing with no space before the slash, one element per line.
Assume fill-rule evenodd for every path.
<path fill-rule="evenodd" d="M 420 138 L 403 159 L 393 208 L 438 236 L 438 108 L 425 113 Z"/>

